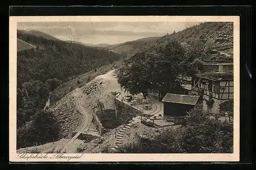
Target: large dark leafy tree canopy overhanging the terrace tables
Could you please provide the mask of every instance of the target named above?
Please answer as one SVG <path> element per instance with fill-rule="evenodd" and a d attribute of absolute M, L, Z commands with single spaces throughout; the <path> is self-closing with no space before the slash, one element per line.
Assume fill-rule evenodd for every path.
<path fill-rule="evenodd" d="M 144 98 L 150 89 L 179 91 L 179 76 L 198 72 L 200 62 L 190 54 L 175 39 L 147 45 L 118 69 L 118 83 L 132 94 L 143 93 Z"/>

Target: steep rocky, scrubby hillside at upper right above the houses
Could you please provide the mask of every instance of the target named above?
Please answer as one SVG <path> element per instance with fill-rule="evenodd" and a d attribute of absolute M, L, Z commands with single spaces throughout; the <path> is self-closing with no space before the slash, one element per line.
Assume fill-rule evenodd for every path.
<path fill-rule="evenodd" d="M 203 22 L 178 33 L 165 35 L 158 42 L 166 43 L 174 38 L 186 48 L 194 48 L 202 61 L 233 62 L 232 22 Z"/>

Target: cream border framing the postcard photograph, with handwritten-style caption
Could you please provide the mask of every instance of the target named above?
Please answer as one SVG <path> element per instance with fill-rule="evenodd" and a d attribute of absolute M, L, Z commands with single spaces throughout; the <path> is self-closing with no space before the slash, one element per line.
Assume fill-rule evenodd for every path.
<path fill-rule="evenodd" d="M 232 154 L 17 154 L 16 83 L 17 22 L 56 21 L 150 21 L 150 22 L 233 22 L 234 121 Z M 9 158 L 10 162 L 130 162 L 130 161 L 239 161 L 240 153 L 240 18 L 239 16 L 10 16 L 9 18 Z M 66 158 L 64 158 L 66 157 Z M 74 157 L 74 158 L 72 158 Z"/>

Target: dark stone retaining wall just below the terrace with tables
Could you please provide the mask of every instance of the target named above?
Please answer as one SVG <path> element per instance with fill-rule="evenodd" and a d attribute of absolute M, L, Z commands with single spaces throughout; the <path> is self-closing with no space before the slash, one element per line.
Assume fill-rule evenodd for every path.
<path fill-rule="evenodd" d="M 141 110 L 130 106 L 124 102 L 119 101 L 118 99 L 114 98 L 114 105 L 116 110 L 116 116 L 119 123 L 123 123 L 126 119 L 126 122 L 129 122 L 136 117 L 137 115 L 141 115 Z"/>

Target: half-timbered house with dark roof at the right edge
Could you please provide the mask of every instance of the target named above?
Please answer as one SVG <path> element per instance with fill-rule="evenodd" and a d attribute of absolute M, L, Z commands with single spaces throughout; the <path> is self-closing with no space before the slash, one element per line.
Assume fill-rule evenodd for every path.
<path fill-rule="evenodd" d="M 203 110 L 209 113 L 225 114 L 220 106 L 233 103 L 233 89 L 232 72 L 210 72 L 192 78 L 192 95 L 203 95 Z M 228 110 L 233 111 L 232 107 Z"/>

